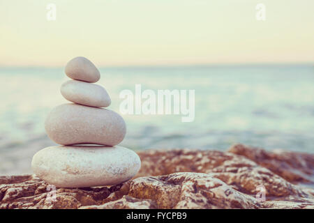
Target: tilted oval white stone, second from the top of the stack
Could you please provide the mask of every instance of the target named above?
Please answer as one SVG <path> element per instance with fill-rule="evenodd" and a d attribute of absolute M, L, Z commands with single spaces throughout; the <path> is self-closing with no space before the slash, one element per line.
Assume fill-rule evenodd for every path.
<path fill-rule="evenodd" d="M 66 100 L 91 107 L 108 107 L 111 103 L 107 91 L 98 84 L 75 81 L 61 85 L 61 94 Z"/>

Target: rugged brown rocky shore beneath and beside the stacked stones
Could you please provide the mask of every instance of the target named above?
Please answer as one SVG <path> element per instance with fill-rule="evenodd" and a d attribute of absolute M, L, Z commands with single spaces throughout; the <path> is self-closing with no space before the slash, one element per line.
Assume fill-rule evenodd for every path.
<path fill-rule="evenodd" d="M 0 208 L 314 208 L 314 154 L 241 144 L 137 153 L 132 180 L 110 187 L 58 188 L 34 175 L 0 176 Z M 266 201 L 255 197 L 262 185 Z"/>

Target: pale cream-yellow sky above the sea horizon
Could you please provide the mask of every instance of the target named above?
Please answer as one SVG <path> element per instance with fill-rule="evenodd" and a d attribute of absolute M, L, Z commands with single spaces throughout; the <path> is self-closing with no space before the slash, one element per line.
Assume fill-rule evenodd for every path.
<path fill-rule="evenodd" d="M 0 0 L 0 66 L 313 63 L 313 10 L 313 0 Z"/>

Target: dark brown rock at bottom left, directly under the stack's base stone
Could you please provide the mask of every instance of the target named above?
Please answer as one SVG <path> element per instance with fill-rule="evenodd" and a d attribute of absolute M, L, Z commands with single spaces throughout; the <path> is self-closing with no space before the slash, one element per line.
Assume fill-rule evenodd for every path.
<path fill-rule="evenodd" d="M 3 184 L 0 178 L 0 208 L 79 208 L 100 205 L 110 194 L 116 191 L 119 194 L 121 190 L 121 185 L 81 189 L 57 188 L 56 201 L 50 201 L 47 197 L 51 190 L 47 183 L 36 176 L 25 177 L 28 180 L 11 180 L 9 184 Z"/>

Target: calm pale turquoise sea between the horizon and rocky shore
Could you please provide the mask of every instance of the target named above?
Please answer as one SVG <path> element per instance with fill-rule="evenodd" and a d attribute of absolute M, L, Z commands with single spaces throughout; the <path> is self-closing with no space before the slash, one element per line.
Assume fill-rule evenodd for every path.
<path fill-rule="evenodd" d="M 124 115 L 122 145 L 134 149 L 225 150 L 234 143 L 267 149 L 314 152 L 313 66 L 198 66 L 103 68 L 99 84 L 119 112 L 119 92 L 195 89 L 195 121 L 177 115 Z M 0 68 L 0 153 L 40 150 L 47 139 L 44 120 L 66 102 L 59 93 L 68 78 L 62 68 Z M 41 141 L 41 144 L 33 142 Z M 38 148 L 29 148 L 35 145 Z"/>

